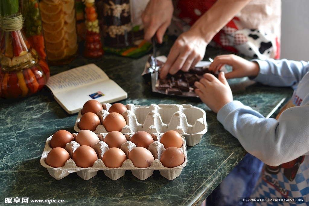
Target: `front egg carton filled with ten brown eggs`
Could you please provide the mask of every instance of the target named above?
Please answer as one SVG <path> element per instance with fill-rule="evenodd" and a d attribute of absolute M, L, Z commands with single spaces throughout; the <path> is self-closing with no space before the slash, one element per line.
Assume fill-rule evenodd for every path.
<path fill-rule="evenodd" d="M 47 139 L 40 163 L 47 168 L 49 174 L 55 179 L 62 179 L 70 173 L 76 172 L 78 176 L 87 180 L 94 177 L 98 170 L 103 170 L 107 177 L 116 180 L 124 176 L 126 170 L 131 170 L 135 177 L 144 180 L 150 177 L 154 170 L 159 170 L 163 177 L 171 180 L 180 175 L 182 169 L 188 162 L 186 141 L 179 134 L 182 131 L 179 128 L 171 131 L 172 134 L 168 134 L 168 137 L 164 137 L 163 133 L 158 132 L 154 126 L 150 126 L 147 132 L 149 137 L 152 138 L 152 141 L 146 143 L 146 145 L 143 142 L 144 139 L 141 140 L 138 137 L 144 131 L 126 133 L 125 135 L 121 134 L 125 137 L 126 141 L 122 138 L 114 138 L 116 142 L 118 140 L 124 142 L 120 145 L 120 148 L 118 148 L 119 144 L 118 146 L 116 144 L 116 147 L 112 147 L 111 141 L 109 140 L 110 137 L 108 136 L 112 134 L 111 132 L 96 134 L 96 137 L 92 137 L 90 135 L 91 131 L 86 131 L 89 134 L 85 140 L 85 138 L 81 139 L 82 137 L 78 136 L 83 134 L 84 131 L 82 130 L 82 133 L 73 133 L 74 140 L 66 140 L 65 149 L 51 147 L 53 135 Z M 146 132 L 142 133 L 143 136 L 145 134 Z M 169 147 L 164 148 L 163 143 L 166 145 L 166 142 L 168 142 L 167 139 L 169 138 L 171 141 L 175 141 L 176 145 L 169 143 Z M 163 143 L 160 142 L 161 139 L 165 139 L 162 141 Z M 93 145 L 94 142 L 96 143 Z M 89 145 L 93 146 L 91 147 Z M 180 148 L 178 148 L 179 145 L 181 145 Z M 145 148 L 147 146 L 148 149 Z M 58 164 L 58 162 L 49 163 L 51 162 L 50 159 L 54 160 L 51 154 L 53 155 L 55 150 L 59 150 L 60 153 L 64 154 L 64 158 L 60 158 L 61 164 Z M 177 155 L 179 158 L 177 158 Z M 57 159 L 59 159 L 58 156 L 56 156 Z"/>

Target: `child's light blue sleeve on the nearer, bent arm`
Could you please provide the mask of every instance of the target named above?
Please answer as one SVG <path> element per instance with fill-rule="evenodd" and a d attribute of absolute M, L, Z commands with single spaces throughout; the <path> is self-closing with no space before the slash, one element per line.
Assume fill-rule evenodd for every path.
<path fill-rule="evenodd" d="M 270 166 L 278 166 L 309 152 L 309 103 L 282 112 L 279 120 L 232 101 L 217 119 L 250 154 Z"/>

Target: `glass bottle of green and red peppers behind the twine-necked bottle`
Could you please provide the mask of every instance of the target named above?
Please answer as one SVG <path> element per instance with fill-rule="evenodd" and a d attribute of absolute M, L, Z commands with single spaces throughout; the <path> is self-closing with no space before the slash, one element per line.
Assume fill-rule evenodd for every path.
<path fill-rule="evenodd" d="M 24 27 L 23 30 L 28 38 L 32 48 L 34 48 L 40 57 L 46 60 L 46 48 L 43 36 L 43 27 L 40 16 L 38 0 L 21 0 L 23 11 Z"/>

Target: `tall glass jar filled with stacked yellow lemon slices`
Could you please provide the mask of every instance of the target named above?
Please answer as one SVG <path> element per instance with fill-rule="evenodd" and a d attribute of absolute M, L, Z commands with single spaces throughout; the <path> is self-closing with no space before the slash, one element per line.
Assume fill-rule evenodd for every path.
<path fill-rule="evenodd" d="M 77 53 L 74 4 L 74 0 L 42 0 L 39 3 L 50 65 L 68 64 Z"/>

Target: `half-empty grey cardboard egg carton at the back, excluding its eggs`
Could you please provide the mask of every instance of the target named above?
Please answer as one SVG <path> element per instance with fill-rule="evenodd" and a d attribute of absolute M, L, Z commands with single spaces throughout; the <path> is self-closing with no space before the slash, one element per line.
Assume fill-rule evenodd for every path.
<path fill-rule="evenodd" d="M 111 104 L 104 103 L 103 110 L 97 113 L 101 123 L 109 114 L 110 107 Z M 126 107 L 128 110 L 122 114 L 127 124 L 121 130 L 123 134 L 147 132 L 151 126 L 161 133 L 175 130 L 178 127 L 179 133 L 186 138 L 187 145 L 194 146 L 207 132 L 205 111 L 190 104 L 151 104 L 150 106 L 127 104 Z M 80 131 L 78 126 L 81 117 L 80 110 L 74 125 L 76 132 Z M 102 124 L 97 126 L 94 132 L 96 134 L 108 133 Z"/>

